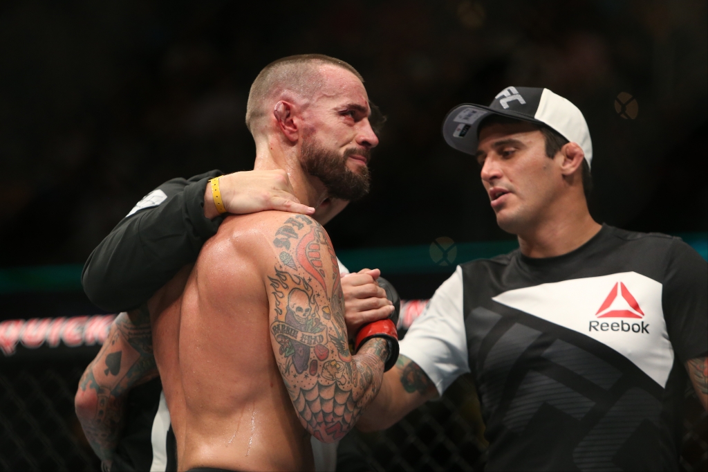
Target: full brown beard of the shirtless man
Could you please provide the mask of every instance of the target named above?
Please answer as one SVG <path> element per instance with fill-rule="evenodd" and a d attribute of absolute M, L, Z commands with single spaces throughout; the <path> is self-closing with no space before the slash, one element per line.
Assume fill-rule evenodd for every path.
<path fill-rule="evenodd" d="M 309 175 L 322 181 L 329 196 L 342 200 L 355 201 L 369 193 L 371 174 L 369 168 L 360 166 L 358 172 L 347 167 L 347 159 L 352 154 L 362 155 L 370 160 L 371 151 L 362 148 L 350 148 L 339 154 L 327 150 L 316 141 L 312 133 L 302 138 L 302 167 Z"/>

